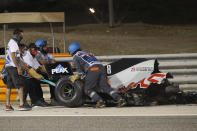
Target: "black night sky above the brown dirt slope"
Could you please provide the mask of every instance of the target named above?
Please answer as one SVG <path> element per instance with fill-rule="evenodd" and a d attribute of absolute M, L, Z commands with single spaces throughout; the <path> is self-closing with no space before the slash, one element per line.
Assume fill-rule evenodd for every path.
<path fill-rule="evenodd" d="M 1 12 L 64 11 L 68 25 L 108 21 L 109 0 L 1 0 Z M 196 24 L 196 0 L 113 0 L 116 23 Z"/>

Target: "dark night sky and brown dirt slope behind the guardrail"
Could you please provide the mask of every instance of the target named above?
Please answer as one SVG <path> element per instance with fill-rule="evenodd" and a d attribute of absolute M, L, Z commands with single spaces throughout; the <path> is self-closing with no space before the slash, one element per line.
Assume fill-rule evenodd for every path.
<path fill-rule="evenodd" d="M 1 0 L 0 12 L 65 12 L 66 45 L 78 42 L 97 55 L 197 50 L 196 0 Z M 63 52 L 62 24 L 53 26 Z M 48 23 L 9 24 L 7 41 L 16 27 L 24 29 L 26 44 L 52 42 Z"/>

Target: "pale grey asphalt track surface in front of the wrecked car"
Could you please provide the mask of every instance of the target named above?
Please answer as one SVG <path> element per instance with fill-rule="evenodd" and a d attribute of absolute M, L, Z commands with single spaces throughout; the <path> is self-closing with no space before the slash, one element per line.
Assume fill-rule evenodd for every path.
<path fill-rule="evenodd" d="M 0 105 L 0 131 L 197 131 L 196 104 L 102 109 L 34 107 L 31 111 L 10 112 Z"/>

